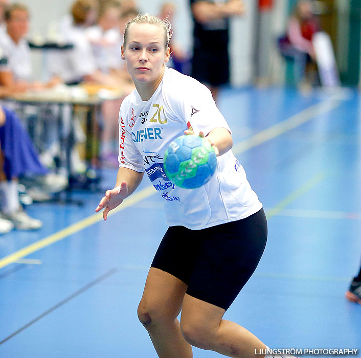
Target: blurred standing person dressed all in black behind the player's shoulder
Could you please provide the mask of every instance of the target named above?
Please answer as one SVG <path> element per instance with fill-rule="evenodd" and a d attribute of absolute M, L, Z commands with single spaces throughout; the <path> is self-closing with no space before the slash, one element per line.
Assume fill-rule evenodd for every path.
<path fill-rule="evenodd" d="M 217 101 L 229 82 L 229 19 L 244 12 L 241 0 L 190 0 L 194 20 L 192 77 L 209 86 Z"/>

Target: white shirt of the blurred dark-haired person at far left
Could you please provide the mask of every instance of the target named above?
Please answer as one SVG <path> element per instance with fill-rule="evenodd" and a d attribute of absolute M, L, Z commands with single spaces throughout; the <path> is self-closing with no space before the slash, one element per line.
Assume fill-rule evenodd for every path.
<path fill-rule="evenodd" d="M 0 72 L 12 72 L 15 80 L 31 81 L 33 70 L 31 51 L 26 39 L 15 43 L 7 31 L 1 31 L 0 49 L 7 64 L 0 66 Z"/>

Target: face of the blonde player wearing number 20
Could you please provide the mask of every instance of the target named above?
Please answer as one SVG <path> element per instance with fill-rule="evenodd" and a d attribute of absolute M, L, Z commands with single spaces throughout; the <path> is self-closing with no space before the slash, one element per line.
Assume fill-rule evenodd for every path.
<path fill-rule="evenodd" d="M 127 43 L 122 46 L 122 59 L 133 81 L 154 82 L 163 73 L 170 56 L 165 49 L 164 30 L 157 25 L 131 24 Z"/>

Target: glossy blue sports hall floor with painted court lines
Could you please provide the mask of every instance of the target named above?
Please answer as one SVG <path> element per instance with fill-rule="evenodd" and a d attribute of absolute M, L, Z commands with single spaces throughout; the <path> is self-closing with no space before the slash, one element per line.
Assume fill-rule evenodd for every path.
<path fill-rule="evenodd" d="M 219 107 L 269 227 L 225 318 L 272 348 L 360 349 L 361 305 L 344 298 L 361 258 L 360 94 L 224 89 Z M 112 187 L 116 170 L 103 175 Z M 163 203 L 144 178 L 104 222 L 94 212 L 101 196 L 34 204 L 40 231 L 0 236 L 0 357 L 156 357 L 137 306 L 167 229 Z"/>

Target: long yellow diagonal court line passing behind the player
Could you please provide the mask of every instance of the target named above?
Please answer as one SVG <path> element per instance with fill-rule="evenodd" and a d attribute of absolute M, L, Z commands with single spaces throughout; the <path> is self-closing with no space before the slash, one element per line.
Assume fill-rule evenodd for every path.
<path fill-rule="evenodd" d="M 270 139 L 273 139 L 275 137 L 278 137 L 285 133 L 288 130 L 294 129 L 297 126 L 311 120 L 315 116 L 319 116 L 321 114 L 326 113 L 327 111 L 339 106 L 341 103 L 341 99 L 338 96 L 333 96 L 321 103 L 315 104 L 303 111 L 301 111 L 299 114 L 292 116 L 285 121 L 282 121 L 276 125 L 273 125 L 259 133 L 257 133 L 255 136 L 245 139 L 241 141 L 240 143 L 236 144 L 233 147 L 233 152 L 235 154 L 239 154 L 247 149 L 256 147 L 257 145 L 260 145 L 264 142 L 267 142 Z M 154 194 L 155 191 L 153 189 L 153 186 L 149 186 L 137 193 L 132 194 L 129 198 L 127 198 L 122 205 L 119 207 L 113 209 L 109 212 L 109 215 L 114 215 L 117 212 L 124 210 L 128 208 L 129 206 L 132 206 L 141 200 L 149 197 L 150 195 Z M 282 203 L 282 202 L 281 202 Z M 277 206 L 279 207 L 279 206 Z M 277 208 L 276 207 L 276 208 Z M 274 214 L 271 212 L 269 215 L 273 216 Z M 84 228 L 93 225 L 94 223 L 100 221 L 103 219 L 103 214 L 96 213 L 91 216 L 86 217 L 85 219 L 82 219 L 73 225 L 70 225 L 69 227 L 66 227 L 55 234 L 52 234 L 50 236 L 47 236 L 43 239 L 40 239 L 39 241 L 36 241 L 30 245 L 28 245 L 25 248 L 22 248 L 8 256 L 5 256 L 4 258 L 0 259 L 0 269 L 3 267 L 16 262 L 17 260 L 28 256 L 35 251 L 41 250 L 57 241 L 60 241 L 64 239 L 67 236 L 70 236 L 78 231 L 83 230 Z"/>

